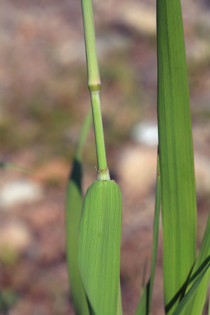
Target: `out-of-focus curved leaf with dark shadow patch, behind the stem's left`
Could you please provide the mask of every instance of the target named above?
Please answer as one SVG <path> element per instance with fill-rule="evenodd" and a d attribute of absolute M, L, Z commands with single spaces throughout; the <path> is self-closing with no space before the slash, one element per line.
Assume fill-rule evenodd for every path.
<path fill-rule="evenodd" d="M 82 126 L 66 192 L 66 255 L 71 286 L 71 296 L 77 315 L 89 315 L 88 302 L 78 268 L 77 244 L 79 221 L 82 211 L 81 156 L 82 148 L 88 135 L 91 123 L 92 112 L 90 109 Z"/>

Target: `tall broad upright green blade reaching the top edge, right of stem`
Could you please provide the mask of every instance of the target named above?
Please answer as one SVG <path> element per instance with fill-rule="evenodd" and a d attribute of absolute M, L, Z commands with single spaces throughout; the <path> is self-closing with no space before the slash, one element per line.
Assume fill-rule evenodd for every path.
<path fill-rule="evenodd" d="M 158 135 L 166 314 L 184 295 L 196 260 L 196 194 L 180 0 L 157 0 Z"/>

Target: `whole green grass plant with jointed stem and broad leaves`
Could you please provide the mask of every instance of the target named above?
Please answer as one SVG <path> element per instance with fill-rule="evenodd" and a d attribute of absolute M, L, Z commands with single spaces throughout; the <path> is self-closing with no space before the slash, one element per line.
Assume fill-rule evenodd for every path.
<path fill-rule="evenodd" d="M 121 315 L 122 198 L 106 164 L 92 1 L 81 2 L 98 169 L 97 180 L 82 204 L 82 143 L 88 132 L 87 118 L 67 190 L 71 292 L 77 315 Z M 162 204 L 165 313 L 201 315 L 210 277 L 210 218 L 196 258 L 196 190 L 180 0 L 157 0 L 157 61 L 159 152 L 152 266 L 135 314 L 150 314 Z"/>

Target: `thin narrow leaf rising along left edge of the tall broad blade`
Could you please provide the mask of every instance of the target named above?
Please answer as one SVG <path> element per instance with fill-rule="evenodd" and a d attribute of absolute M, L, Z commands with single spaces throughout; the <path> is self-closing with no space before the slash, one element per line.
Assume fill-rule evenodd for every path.
<path fill-rule="evenodd" d="M 156 266 L 156 259 L 157 259 L 160 206 L 161 206 L 161 179 L 160 179 L 160 163 L 159 163 L 159 153 L 158 153 L 155 217 L 154 217 L 154 226 L 153 226 L 152 266 L 151 266 L 150 279 L 142 292 L 135 315 L 148 315 L 150 312 L 151 300 L 152 300 L 152 289 L 153 289 L 153 283 L 154 283 L 154 277 L 155 277 L 155 266 Z"/>

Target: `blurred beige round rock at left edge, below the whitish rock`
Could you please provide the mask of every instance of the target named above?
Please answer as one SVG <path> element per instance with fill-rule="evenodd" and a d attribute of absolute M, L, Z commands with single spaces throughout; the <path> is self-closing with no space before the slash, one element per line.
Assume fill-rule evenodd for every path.
<path fill-rule="evenodd" d="M 10 264 L 23 253 L 31 242 L 31 234 L 21 221 L 10 221 L 0 226 L 0 259 Z"/>

